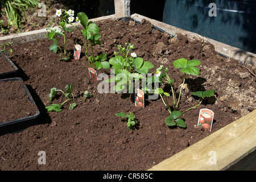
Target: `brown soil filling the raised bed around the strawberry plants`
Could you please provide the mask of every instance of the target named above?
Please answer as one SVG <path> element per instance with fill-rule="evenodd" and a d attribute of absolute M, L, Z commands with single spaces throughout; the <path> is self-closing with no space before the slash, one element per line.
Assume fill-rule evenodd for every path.
<path fill-rule="evenodd" d="M 192 97 L 192 92 L 214 89 L 216 94 L 181 115 L 187 125 L 185 129 L 168 127 L 164 120 L 169 114 L 160 97 L 146 100 L 145 107 L 139 108 L 134 106 L 133 94 L 99 93 L 101 81 L 90 78 L 83 49 L 80 60 L 65 62 L 58 60 L 58 53 L 49 51 L 52 41 L 48 39 L 13 45 L 14 52 L 9 56 L 22 69 L 20 77 L 30 88 L 40 117 L 37 125 L 0 137 L 1 170 L 146 170 L 255 109 L 255 77 L 248 71 L 255 68 L 221 57 L 212 44 L 189 42 L 183 35 L 171 38 L 154 30 L 145 20 L 138 25 L 114 20 L 97 24 L 102 37 L 101 46 L 94 46 L 95 55 L 106 53 L 109 60 L 118 51 L 118 44 L 133 43 L 133 52 L 155 65 L 150 72 L 162 64 L 169 67 L 177 96 L 183 73 L 174 68 L 173 61 L 179 58 L 201 61 L 200 75 L 187 76 L 180 111 L 199 104 L 199 98 Z M 74 43 L 84 46 L 84 38 L 77 30 L 69 32 L 67 38 L 67 49 L 73 56 Z M 110 69 L 100 69 L 97 73 L 110 75 Z M 65 100 L 59 93 L 49 101 L 50 89 L 64 90 L 71 83 L 75 109 L 69 110 L 66 102 L 60 113 L 47 112 L 46 106 Z M 162 88 L 171 93 L 168 85 Z M 78 102 L 85 90 L 94 97 Z M 168 102 L 172 106 L 172 97 Z M 214 111 L 211 132 L 197 126 L 199 110 L 203 108 Z M 121 111 L 134 113 L 138 129 L 129 130 L 126 122 L 115 116 Z M 39 151 L 46 152 L 45 165 L 38 163 Z"/>

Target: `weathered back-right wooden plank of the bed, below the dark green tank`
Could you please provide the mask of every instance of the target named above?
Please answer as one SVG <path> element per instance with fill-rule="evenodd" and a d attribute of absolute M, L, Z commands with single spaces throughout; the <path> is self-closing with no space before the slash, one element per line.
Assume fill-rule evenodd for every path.
<path fill-rule="evenodd" d="M 186 35 L 187 38 L 193 42 L 194 40 L 201 40 L 201 41 L 207 41 L 215 47 L 215 51 L 218 53 L 221 53 L 222 55 L 228 56 L 233 59 L 237 59 L 241 61 L 242 63 L 250 63 L 251 65 L 256 66 L 256 54 L 248 51 L 244 51 L 240 48 L 236 48 L 233 46 L 229 46 L 227 44 L 218 42 L 213 39 L 206 38 L 204 36 L 201 36 L 199 34 L 196 34 L 194 32 L 189 32 L 174 26 L 171 26 L 170 24 L 166 24 L 163 22 L 159 22 L 154 19 L 147 18 L 146 16 L 142 16 L 139 14 L 133 14 L 131 15 L 131 18 L 138 20 L 141 22 L 142 19 L 146 19 L 150 21 L 154 26 L 161 28 L 162 30 L 166 31 L 167 33 L 171 35 L 176 34 L 183 34 Z"/>

